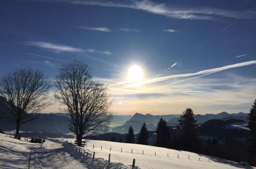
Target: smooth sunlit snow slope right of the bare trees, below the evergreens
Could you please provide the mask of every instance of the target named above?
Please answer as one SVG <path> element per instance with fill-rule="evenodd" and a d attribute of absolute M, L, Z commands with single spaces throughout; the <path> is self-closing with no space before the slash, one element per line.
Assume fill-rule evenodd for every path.
<path fill-rule="evenodd" d="M 70 142 L 71 140 L 69 139 L 68 141 Z M 72 142 L 74 142 L 74 139 L 72 139 Z M 90 154 L 95 152 L 95 158 L 103 158 L 104 160 L 108 160 L 110 153 L 111 162 L 122 162 L 131 166 L 132 160 L 135 159 L 135 166 L 137 168 L 243 168 L 243 166 L 240 164 L 226 161 L 224 159 L 191 152 L 165 149 L 162 147 L 100 140 L 87 140 L 87 143 L 87 147 L 84 147 L 83 149 L 85 152 L 89 152 Z M 66 142 L 66 146 L 69 147 L 70 143 Z M 72 147 L 72 149 L 75 148 Z M 78 156 L 82 155 L 83 151 L 81 150 L 81 154 Z"/>

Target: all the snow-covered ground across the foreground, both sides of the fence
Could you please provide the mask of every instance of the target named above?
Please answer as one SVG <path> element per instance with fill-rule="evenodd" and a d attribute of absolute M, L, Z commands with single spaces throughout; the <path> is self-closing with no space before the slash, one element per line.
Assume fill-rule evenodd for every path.
<path fill-rule="evenodd" d="M 87 140 L 87 147 L 79 152 L 79 147 L 73 147 L 70 141 L 73 143 L 74 139 L 67 142 L 63 138 L 49 138 L 40 147 L 40 144 L 0 134 L 0 168 L 28 168 L 30 151 L 31 168 L 131 168 L 133 159 L 135 168 L 245 168 L 235 162 L 196 153 L 111 141 Z"/>

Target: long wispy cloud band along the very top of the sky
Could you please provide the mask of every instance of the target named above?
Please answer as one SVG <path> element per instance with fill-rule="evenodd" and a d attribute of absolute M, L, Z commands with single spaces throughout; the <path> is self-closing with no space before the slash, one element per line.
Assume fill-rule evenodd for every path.
<path fill-rule="evenodd" d="M 31 1 L 31 0 L 30 0 Z M 38 1 L 38 0 L 34 0 Z M 255 19 L 255 13 L 247 13 L 243 15 L 244 11 L 234 11 L 227 9 L 218 9 L 210 7 L 188 7 L 178 6 L 173 4 L 154 3 L 149 0 L 143 1 L 128 1 L 128 3 L 114 3 L 111 1 L 90 1 L 90 0 L 40 0 L 40 2 L 58 2 L 58 3 L 71 3 L 78 5 L 92 5 L 112 8 L 130 8 L 142 10 L 145 12 L 164 15 L 176 19 L 203 19 L 214 20 L 219 17 L 224 18 L 250 18 Z M 127 2 L 127 1 L 125 1 Z"/>

